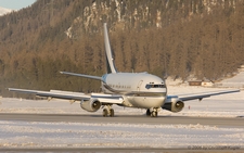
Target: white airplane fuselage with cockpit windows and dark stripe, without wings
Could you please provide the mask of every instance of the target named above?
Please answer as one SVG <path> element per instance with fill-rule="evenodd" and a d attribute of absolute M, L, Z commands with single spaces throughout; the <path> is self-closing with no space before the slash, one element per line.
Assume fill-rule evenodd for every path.
<path fill-rule="evenodd" d="M 123 94 L 124 106 L 159 109 L 164 105 L 167 88 L 164 80 L 147 73 L 116 73 L 103 77 L 104 93 Z M 152 88 L 146 88 L 152 86 Z"/>

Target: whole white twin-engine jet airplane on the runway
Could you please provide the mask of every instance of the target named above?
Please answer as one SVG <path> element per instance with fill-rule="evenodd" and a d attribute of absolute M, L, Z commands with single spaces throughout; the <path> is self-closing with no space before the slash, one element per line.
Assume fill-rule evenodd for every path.
<path fill-rule="evenodd" d="M 229 90 L 184 95 L 168 95 L 166 82 L 158 76 L 149 73 L 117 72 L 112 55 L 106 23 L 104 23 L 104 43 L 107 73 L 102 77 L 60 72 L 64 75 L 100 80 L 102 84 L 102 93 L 86 94 L 61 90 L 40 91 L 16 88 L 9 88 L 9 91 L 31 93 L 37 97 L 46 97 L 48 100 L 64 99 L 69 100 L 70 103 L 80 101 L 80 107 L 88 112 L 97 112 L 103 107 L 102 115 L 104 117 L 115 116 L 115 112 L 112 107 L 114 104 L 124 107 L 143 109 L 146 110 L 146 116 L 157 117 L 157 114 L 162 109 L 175 113 L 182 111 L 185 101 L 202 100 L 211 95 L 240 92 L 240 90 Z"/>

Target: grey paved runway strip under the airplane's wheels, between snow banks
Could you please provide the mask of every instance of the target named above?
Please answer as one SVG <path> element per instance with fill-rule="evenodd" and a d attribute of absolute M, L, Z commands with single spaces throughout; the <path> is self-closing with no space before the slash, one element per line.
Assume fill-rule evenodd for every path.
<path fill-rule="evenodd" d="M 0 120 L 23 122 L 65 122 L 65 123 L 104 123 L 104 124 L 149 124 L 149 125 L 208 125 L 217 127 L 244 128 L 244 117 L 189 117 L 189 116 L 158 116 L 118 115 L 102 117 L 101 115 L 80 114 L 12 114 L 0 113 Z"/>

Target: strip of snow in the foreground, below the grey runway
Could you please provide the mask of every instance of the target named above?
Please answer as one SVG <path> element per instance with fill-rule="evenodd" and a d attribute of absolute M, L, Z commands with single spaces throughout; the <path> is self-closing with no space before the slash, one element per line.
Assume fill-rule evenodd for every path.
<path fill-rule="evenodd" d="M 243 146 L 243 128 L 203 125 L 133 125 L 0 122 L 0 148 Z"/>

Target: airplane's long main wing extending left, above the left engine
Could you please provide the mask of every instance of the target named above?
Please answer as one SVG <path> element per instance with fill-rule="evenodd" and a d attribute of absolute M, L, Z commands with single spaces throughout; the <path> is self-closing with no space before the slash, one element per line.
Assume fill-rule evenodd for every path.
<path fill-rule="evenodd" d="M 85 94 L 81 92 L 70 92 L 60 90 L 40 91 L 40 90 L 16 89 L 16 88 L 9 88 L 9 91 L 35 94 L 36 97 L 43 97 L 48 98 L 49 100 L 51 99 L 69 100 L 72 103 L 75 101 L 89 101 L 91 99 L 97 99 L 102 104 L 107 103 L 121 104 L 124 101 L 121 95 L 102 94 L 102 93 Z"/>

